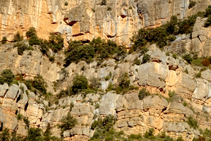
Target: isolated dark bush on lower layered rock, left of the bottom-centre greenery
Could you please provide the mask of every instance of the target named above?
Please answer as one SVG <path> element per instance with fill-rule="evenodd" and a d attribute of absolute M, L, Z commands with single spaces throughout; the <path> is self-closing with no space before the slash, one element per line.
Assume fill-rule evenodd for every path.
<path fill-rule="evenodd" d="M 60 122 L 61 124 L 58 125 L 58 127 L 61 129 L 62 134 L 64 131 L 74 128 L 78 123 L 77 120 L 70 114 L 70 112 L 68 112 L 67 116 L 63 117 Z"/>

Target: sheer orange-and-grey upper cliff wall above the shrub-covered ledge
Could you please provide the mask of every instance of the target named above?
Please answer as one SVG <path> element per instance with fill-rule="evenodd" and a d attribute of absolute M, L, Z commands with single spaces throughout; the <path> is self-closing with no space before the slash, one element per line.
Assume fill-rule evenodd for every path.
<path fill-rule="evenodd" d="M 183 19 L 204 11 L 210 3 L 197 0 L 188 9 L 189 0 L 2 0 L 0 39 L 6 36 L 11 41 L 17 31 L 25 36 L 33 26 L 44 39 L 59 32 L 66 41 L 102 37 L 129 46 L 139 28 L 160 26 L 172 15 Z"/>

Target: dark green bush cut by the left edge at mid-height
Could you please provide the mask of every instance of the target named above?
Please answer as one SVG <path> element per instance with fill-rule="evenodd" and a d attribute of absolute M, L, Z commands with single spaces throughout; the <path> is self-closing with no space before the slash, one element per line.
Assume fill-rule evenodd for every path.
<path fill-rule="evenodd" d="M 13 82 L 14 78 L 15 76 L 12 71 L 10 69 L 5 69 L 1 72 L 0 84 L 7 83 L 8 85 L 10 85 Z"/>

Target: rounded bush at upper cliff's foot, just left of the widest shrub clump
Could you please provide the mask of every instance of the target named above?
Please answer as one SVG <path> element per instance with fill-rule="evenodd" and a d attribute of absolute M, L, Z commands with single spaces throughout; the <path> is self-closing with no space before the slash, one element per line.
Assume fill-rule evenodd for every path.
<path fill-rule="evenodd" d="M 53 52 L 58 52 L 63 48 L 64 39 L 61 34 L 56 35 L 55 33 L 50 33 L 49 46 Z"/>

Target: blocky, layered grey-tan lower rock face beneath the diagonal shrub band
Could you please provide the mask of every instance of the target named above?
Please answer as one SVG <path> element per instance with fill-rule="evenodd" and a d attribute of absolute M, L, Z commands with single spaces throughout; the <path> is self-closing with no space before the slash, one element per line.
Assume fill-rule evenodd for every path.
<path fill-rule="evenodd" d="M 53 81 L 64 77 L 60 74 L 61 65 L 58 62 L 49 62 L 39 50 L 35 49 L 31 53 L 25 51 L 19 56 L 16 48 L 12 47 L 13 44 L 6 44 L 1 48 L 2 70 L 10 68 L 15 74 L 22 74 L 25 78 L 40 74 L 48 82 L 49 91 L 54 92 Z M 52 134 L 59 137 L 61 131 L 56 125 L 70 112 L 78 124 L 63 133 L 65 140 L 88 140 L 94 133 L 91 130 L 92 123 L 99 117 L 108 115 L 117 119 L 115 130 L 124 131 L 127 135 L 144 134 L 148 129 L 154 128 L 155 134 L 164 131 L 174 139 L 182 136 L 184 140 L 189 141 L 200 136 L 200 132 L 189 126 L 186 121 L 187 117 L 192 116 L 198 121 L 200 128 L 210 127 L 211 122 L 203 116 L 203 112 L 207 113 L 206 116 L 211 113 L 210 70 L 202 71 L 201 78 L 195 78 L 198 71 L 181 58 L 175 59 L 171 54 L 167 56 L 155 45 L 151 45 L 146 53 L 151 56 L 151 60 L 140 65 L 134 64 L 134 61 L 142 61 L 141 52 L 128 55 L 118 64 L 113 59 L 104 61 L 100 66 L 96 62 L 71 63 L 66 68 L 69 77 L 64 79 L 58 89 L 69 87 L 76 73 L 85 75 L 89 81 L 93 77 L 97 78 L 102 91 L 87 94 L 86 97 L 78 94 L 56 98 L 56 102 L 52 102 L 29 91 L 26 85 L 20 82 L 10 86 L 0 85 L 0 122 L 3 123 L 1 126 L 26 136 L 26 124 L 17 118 L 21 114 L 28 118 L 30 127 L 45 130 L 50 124 Z M 8 58 L 11 61 L 8 61 Z M 82 67 L 84 69 L 81 69 Z M 104 91 L 109 83 L 117 85 L 118 78 L 123 73 L 129 74 L 131 85 L 139 89 L 146 88 L 152 95 L 140 100 L 139 90 L 124 95 L 115 91 Z M 109 75 L 109 80 L 105 80 Z M 176 95 L 169 97 L 169 92 L 173 91 Z M 70 110 L 72 104 L 74 106 Z"/>

